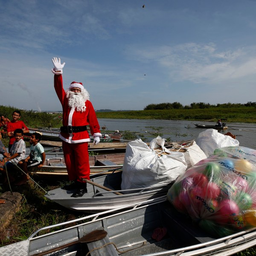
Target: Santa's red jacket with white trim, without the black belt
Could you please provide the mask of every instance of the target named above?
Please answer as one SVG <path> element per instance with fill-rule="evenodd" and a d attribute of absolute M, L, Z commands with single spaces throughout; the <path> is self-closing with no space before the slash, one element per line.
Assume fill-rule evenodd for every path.
<path fill-rule="evenodd" d="M 95 136 L 102 136 L 100 133 L 99 123 L 96 117 L 92 103 L 87 100 L 85 102 L 86 110 L 84 112 L 76 111 L 68 106 L 68 99 L 65 90 L 63 89 L 62 75 L 54 75 L 54 88 L 62 105 L 63 110 L 63 126 L 83 126 L 90 125 L 90 132 Z M 76 133 L 61 132 L 59 137 L 67 143 L 89 142 L 90 136 L 88 131 Z"/>

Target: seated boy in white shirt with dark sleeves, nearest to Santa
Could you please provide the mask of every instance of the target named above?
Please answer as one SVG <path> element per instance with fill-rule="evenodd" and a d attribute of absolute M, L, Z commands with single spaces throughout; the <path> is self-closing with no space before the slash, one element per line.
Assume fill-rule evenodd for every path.
<path fill-rule="evenodd" d="M 15 183 L 15 185 L 23 185 L 30 179 L 28 175 L 28 167 L 37 166 L 38 168 L 41 168 L 44 165 L 45 152 L 44 147 L 39 143 L 41 139 L 42 135 L 38 132 L 34 132 L 31 135 L 29 140 L 29 143 L 31 144 L 30 154 L 26 159 L 19 162 L 19 166 L 21 166 L 21 169 L 26 173 L 26 175 L 23 173 L 21 180 Z"/>

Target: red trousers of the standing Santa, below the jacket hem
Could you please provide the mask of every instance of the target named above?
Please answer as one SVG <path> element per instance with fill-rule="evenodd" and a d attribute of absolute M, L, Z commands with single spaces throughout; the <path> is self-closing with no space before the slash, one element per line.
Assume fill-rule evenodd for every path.
<path fill-rule="evenodd" d="M 83 182 L 82 178 L 90 180 L 88 143 L 71 144 L 62 141 L 62 148 L 69 180 L 79 182 Z"/>

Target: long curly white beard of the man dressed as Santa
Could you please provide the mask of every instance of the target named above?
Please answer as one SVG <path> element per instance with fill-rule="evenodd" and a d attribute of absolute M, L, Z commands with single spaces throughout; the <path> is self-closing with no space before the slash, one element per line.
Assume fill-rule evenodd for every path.
<path fill-rule="evenodd" d="M 87 90 L 82 89 L 81 93 L 71 92 L 67 90 L 68 105 L 70 108 L 75 108 L 77 111 L 84 112 L 86 109 L 85 102 L 89 100 Z"/>

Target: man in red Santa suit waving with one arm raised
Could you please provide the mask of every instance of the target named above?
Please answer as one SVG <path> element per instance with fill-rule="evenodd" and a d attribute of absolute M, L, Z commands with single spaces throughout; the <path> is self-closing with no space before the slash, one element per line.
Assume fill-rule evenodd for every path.
<path fill-rule="evenodd" d="M 61 64 L 60 58 L 53 58 L 52 73 L 54 73 L 54 88 L 61 102 L 63 118 L 61 133 L 65 163 L 69 180 L 73 183 L 65 185 L 63 189 L 75 189 L 72 197 L 81 197 L 87 192 L 86 182 L 90 180 L 90 166 L 88 154 L 88 142 L 90 136 L 87 125 L 90 126 L 90 133 L 93 135 L 93 144 L 99 143 L 99 123 L 92 103 L 89 101 L 89 93 L 84 89 L 82 83 L 72 82 L 69 89 L 63 89 L 62 69 L 65 62 Z"/>

